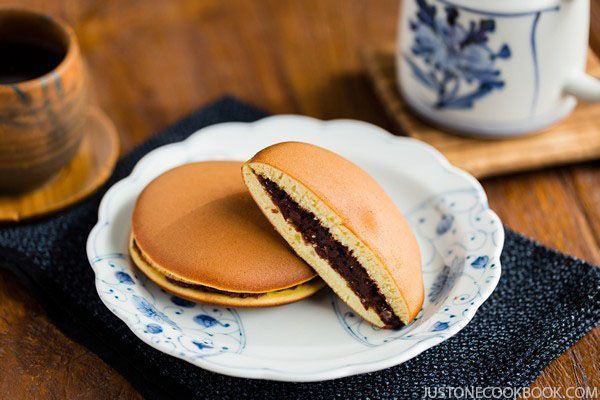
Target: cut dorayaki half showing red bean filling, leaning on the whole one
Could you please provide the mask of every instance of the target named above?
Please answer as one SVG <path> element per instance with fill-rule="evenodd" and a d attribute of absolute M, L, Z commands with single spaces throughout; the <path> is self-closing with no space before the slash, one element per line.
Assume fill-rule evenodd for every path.
<path fill-rule="evenodd" d="M 258 152 L 242 173 L 279 234 L 358 315 L 381 328 L 414 320 L 424 299 L 419 247 L 365 171 L 331 151 L 286 142 Z"/>

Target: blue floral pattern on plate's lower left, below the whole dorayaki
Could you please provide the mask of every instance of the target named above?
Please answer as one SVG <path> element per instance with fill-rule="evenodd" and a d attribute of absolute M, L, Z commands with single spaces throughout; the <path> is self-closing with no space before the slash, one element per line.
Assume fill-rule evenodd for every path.
<path fill-rule="evenodd" d="M 150 291 L 147 285 L 153 283 L 132 272 L 127 258 L 114 254 L 93 260 L 95 268 L 105 271 L 96 286 L 109 308 L 123 313 L 130 326 L 150 336 L 151 343 L 194 358 L 243 350 L 246 337 L 237 311 Z"/>

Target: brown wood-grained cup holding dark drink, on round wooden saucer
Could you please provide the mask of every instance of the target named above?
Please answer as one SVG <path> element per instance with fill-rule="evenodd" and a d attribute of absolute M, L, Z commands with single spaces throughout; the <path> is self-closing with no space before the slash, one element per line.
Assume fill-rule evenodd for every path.
<path fill-rule="evenodd" d="M 39 77 L 0 84 L 0 194 L 8 194 L 42 185 L 71 161 L 88 104 L 79 45 L 68 25 L 0 9 L 0 39 L 49 45 L 62 56 Z"/>

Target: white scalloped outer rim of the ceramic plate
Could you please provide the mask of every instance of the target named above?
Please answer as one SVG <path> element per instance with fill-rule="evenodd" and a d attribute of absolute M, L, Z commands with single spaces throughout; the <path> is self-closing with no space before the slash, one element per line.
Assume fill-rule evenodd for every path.
<path fill-rule="evenodd" d="M 496 269 L 496 274 L 493 276 L 493 279 L 489 282 L 489 284 L 487 286 L 482 287 L 483 290 L 480 292 L 480 296 L 475 300 L 475 304 L 473 305 L 473 307 L 470 308 L 469 311 L 466 314 L 464 314 L 459 321 L 457 321 L 447 331 L 445 331 L 443 336 L 442 335 L 432 336 L 426 340 L 417 342 L 412 347 L 400 352 L 399 354 L 393 354 L 390 357 L 384 358 L 381 360 L 374 360 L 374 361 L 362 362 L 362 363 L 354 363 L 354 364 L 350 364 L 350 365 L 343 365 L 340 367 L 329 368 L 329 369 L 324 369 L 324 370 L 311 370 L 306 373 L 282 372 L 280 370 L 271 369 L 271 368 L 249 369 L 248 367 L 245 367 L 245 366 L 241 366 L 241 367 L 235 367 L 235 366 L 231 366 L 231 365 L 224 366 L 224 365 L 220 365 L 215 362 L 210 362 L 210 363 L 204 362 L 205 359 L 203 359 L 203 358 L 196 358 L 194 362 L 190 361 L 190 360 L 186 360 L 185 357 L 181 357 L 178 354 L 175 354 L 175 352 L 170 352 L 168 349 L 158 348 L 155 344 L 153 344 L 149 340 L 147 340 L 147 337 L 143 336 L 141 334 L 141 332 L 137 331 L 136 329 L 133 329 L 133 327 L 127 323 L 127 320 L 124 316 L 120 315 L 120 313 L 118 311 L 111 310 L 109 303 L 104 299 L 104 297 L 100 293 L 98 293 L 100 299 L 106 305 L 106 307 L 109 309 L 109 311 L 114 313 L 119 319 L 121 319 L 128 326 L 128 328 L 144 343 L 148 344 L 149 346 L 151 346 L 161 352 L 164 352 L 164 353 L 170 354 L 174 357 L 191 362 L 194 365 L 200 366 L 202 368 L 205 368 L 205 369 L 213 371 L 213 372 L 230 375 L 230 376 L 236 376 L 236 377 L 242 377 L 242 378 L 254 378 L 254 379 L 269 379 L 269 380 L 276 380 L 276 381 L 292 381 L 292 382 L 313 382 L 313 381 L 330 380 L 330 379 L 341 378 L 341 377 L 345 377 L 345 376 L 349 376 L 349 375 L 368 373 L 368 372 L 378 371 L 378 370 L 381 370 L 384 368 L 389 368 L 389 367 L 401 364 L 411 358 L 416 357 L 417 355 L 421 354 L 423 351 L 436 346 L 437 344 L 449 339 L 450 337 L 452 337 L 456 333 L 458 333 L 460 330 L 462 330 L 475 316 L 479 307 L 492 294 L 492 292 L 494 291 L 494 289 L 497 286 L 498 281 L 500 279 L 501 265 L 500 265 L 499 258 L 500 258 L 500 254 L 502 252 L 502 248 L 503 248 L 503 244 L 504 244 L 504 230 L 503 230 L 502 224 L 500 222 L 500 219 L 489 208 L 487 195 L 486 195 L 483 187 L 481 186 L 481 184 L 477 181 L 477 179 L 475 179 L 469 173 L 452 165 L 438 150 L 436 150 L 432 146 L 430 146 L 426 143 L 423 143 L 419 140 L 408 138 L 408 137 L 395 136 L 395 135 L 390 134 L 383 128 L 380 128 L 376 125 L 373 125 L 371 123 L 364 122 L 364 121 L 353 120 L 353 119 L 334 119 L 334 120 L 323 121 L 320 119 L 302 116 L 302 115 L 281 114 L 281 115 L 268 116 L 268 117 L 259 119 L 254 122 L 237 122 L 237 121 L 236 122 L 223 122 L 223 123 L 209 125 L 204 128 L 201 128 L 201 129 L 195 131 L 194 133 L 192 133 L 188 138 L 186 138 L 183 141 L 169 143 L 169 144 L 166 144 L 163 146 L 159 146 L 159 147 L 153 149 L 152 151 L 148 152 L 140 160 L 138 160 L 138 162 L 136 163 L 136 165 L 134 166 L 134 168 L 132 169 L 131 173 L 128 176 L 117 181 L 111 188 L 109 188 L 107 190 L 107 192 L 104 194 L 104 196 L 100 202 L 100 206 L 98 208 L 98 222 L 90 231 L 90 234 L 89 234 L 89 237 L 88 237 L 88 240 L 86 243 L 88 260 L 89 260 L 89 262 L 92 266 L 92 269 L 94 270 L 95 275 L 96 275 L 96 281 L 95 281 L 96 290 L 98 292 L 100 290 L 99 280 L 98 280 L 98 274 L 96 271 L 96 267 L 93 262 L 93 257 L 91 256 L 91 254 L 93 254 L 93 252 L 94 252 L 94 249 L 92 249 L 94 237 L 99 234 L 99 232 L 103 229 L 103 227 L 106 226 L 106 223 L 107 223 L 107 215 L 106 215 L 107 214 L 107 211 L 106 211 L 107 203 L 110 200 L 110 197 L 112 195 L 114 195 L 115 192 L 119 192 L 121 190 L 121 188 L 124 185 L 126 185 L 129 180 L 132 179 L 132 177 L 134 177 L 136 174 L 139 173 L 139 171 L 143 168 L 143 165 L 145 163 L 147 163 L 148 160 L 155 157 L 156 154 L 158 154 L 158 153 L 167 151 L 169 148 L 178 148 L 180 146 L 184 146 L 185 144 L 191 143 L 193 141 L 202 140 L 201 138 L 203 136 L 206 136 L 206 134 L 210 133 L 211 131 L 216 131 L 218 129 L 226 130 L 226 128 L 258 129 L 262 124 L 277 123 L 277 122 L 280 122 L 281 120 L 286 120 L 286 119 L 288 119 L 288 120 L 295 119 L 296 121 L 310 122 L 310 123 L 317 124 L 317 125 L 327 125 L 327 126 L 331 126 L 331 125 L 335 125 L 335 124 L 361 125 L 363 128 L 368 129 L 370 131 L 369 132 L 370 135 L 379 136 L 380 139 L 384 139 L 384 140 L 390 141 L 390 142 L 410 143 L 411 145 L 415 145 L 415 146 L 419 147 L 421 150 L 423 150 L 425 153 L 427 153 L 429 156 L 431 156 L 432 160 L 434 160 L 436 163 L 438 163 L 443 170 L 446 170 L 447 172 L 451 173 L 452 175 L 455 175 L 455 176 L 461 178 L 462 180 L 466 181 L 466 184 L 467 184 L 466 186 L 469 187 L 470 189 L 475 190 L 475 192 L 477 193 L 477 198 L 481 201 L 481 204 L 485 207 L 485 213 L 488 216 L 490 216 L 490 218 L 497 221 L 500 229 L 499 229 L 499 236 L 497 238 L 497 245 L 495 247 L 495 251 L 493 254 L 493 256 L 496 259 L 498 259 L 498 267 Z M 390 342 L 383 346 L 391 347 L 392 344 L 393 344 L 393 342 Z M 368 351 L 368 350 L 365 350 L 365 351 Z"/>

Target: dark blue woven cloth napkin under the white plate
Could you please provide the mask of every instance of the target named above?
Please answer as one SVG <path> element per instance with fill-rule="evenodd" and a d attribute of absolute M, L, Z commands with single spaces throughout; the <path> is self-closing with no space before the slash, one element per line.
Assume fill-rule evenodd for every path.
<path fill-rule="evenodd" d="M 270 382 L 207 372 L 145 345 L 96 294 L 85 242 L 100 199 L 148 151 L 211 124 L 265 115 L 225 98 L 177 122 L 124 157 L 104 188 L 84 202 L 44 219 L 0 227 L 2 266 L 31 288 L 66 334 L 147 398 L 421 399 L 446 386 L 528 386 L 599 323 L 600 269 L 507 230 L 502 278 L 471 323 L 397 367 L 327 382 Z M 512 398 L 510 391 L 505 393 Z M 465 394 L 463 398 L 470 397 Z"/>

